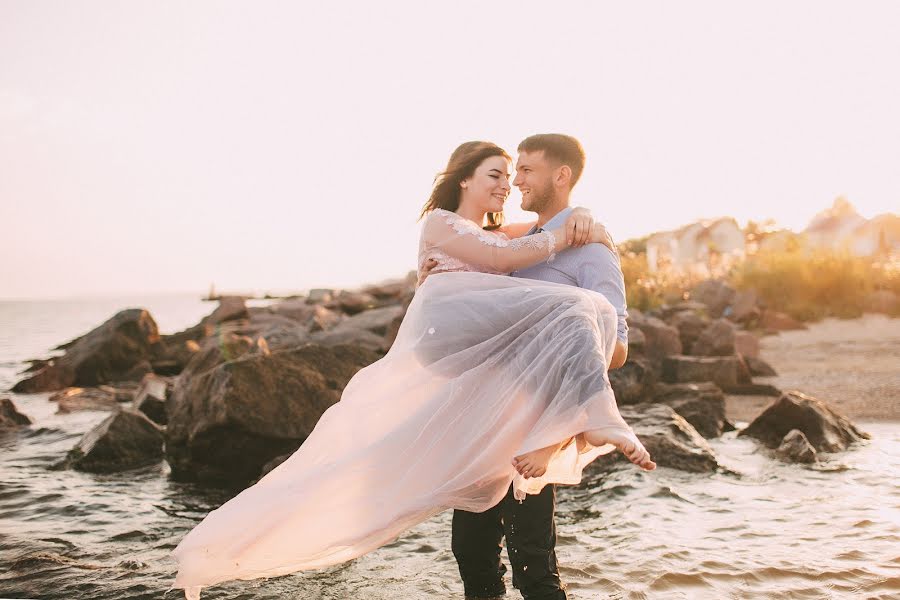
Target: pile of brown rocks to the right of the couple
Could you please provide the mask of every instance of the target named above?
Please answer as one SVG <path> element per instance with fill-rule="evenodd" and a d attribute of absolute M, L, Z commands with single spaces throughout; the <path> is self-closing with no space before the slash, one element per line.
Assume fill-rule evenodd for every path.
<path fill-rule="evenodd" d="M 629 310 L 629 357 L 609 374 L 623 416 L 660 466 L 719 468 L 705 440 L 735 429 L 726 394 L 778 398 L 740 435 L 760 439 L 781 460 L 816 462 L 819 452 L 867 439 L 825 402 L 753 380 L 776 373 L 759 356 L 759 336 L 801 324 L 767 311 L 752 290 L 721 281 L 705 281 L 689 297 L 647 313 Z"/>

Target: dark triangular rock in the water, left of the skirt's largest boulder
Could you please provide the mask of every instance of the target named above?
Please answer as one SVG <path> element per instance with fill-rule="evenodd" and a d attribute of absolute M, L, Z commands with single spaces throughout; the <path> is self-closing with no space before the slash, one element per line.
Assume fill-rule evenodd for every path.
<path fill-rule="evenodd" d="M 162 430 L 143 413 L 121 410 L 84 434 L 59 466 L 111 473 L 150 465 L 162 457 Z"/>

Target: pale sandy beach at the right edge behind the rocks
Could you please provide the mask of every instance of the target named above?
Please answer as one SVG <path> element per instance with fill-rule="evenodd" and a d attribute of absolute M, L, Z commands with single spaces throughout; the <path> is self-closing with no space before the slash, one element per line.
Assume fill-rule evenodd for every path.
<path fill-rule="evenodd" d="M 900 319 L 825 319 L 804 331 L 764 337 L 761 356 L 778 376 L 758 381 L 825 400 L 852 419 L 900 421 Z M 770 402 L 730 396 L 729 418 L 749 421 Z"/>

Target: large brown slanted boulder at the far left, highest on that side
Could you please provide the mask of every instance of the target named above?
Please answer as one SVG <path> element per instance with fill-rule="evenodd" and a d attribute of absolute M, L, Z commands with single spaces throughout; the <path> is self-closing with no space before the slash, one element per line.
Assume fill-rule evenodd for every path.
<path fill-rule="evenodd" d="M 17 383 L 12 391 L 31 394 L 127 381 L 134 376 L 129 372 L 136 365 L 151 358 L 159 341 L 159 330 L 149 312 L 140 308 L 120 311 L 67 345 L 63 356 Z"/>

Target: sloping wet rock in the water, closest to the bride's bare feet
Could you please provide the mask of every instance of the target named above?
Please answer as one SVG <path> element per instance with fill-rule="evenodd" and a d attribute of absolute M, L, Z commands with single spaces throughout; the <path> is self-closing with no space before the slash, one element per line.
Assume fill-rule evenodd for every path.
<path fill-rule="evenodd" d="M 706 440 L 670 406 L 636 404 L 623 406 L 620 412 L 660 467 L 692 473 L 710 473 L 718 468 Z M 625 460 L 618 453 L 617 457 Z"/>

